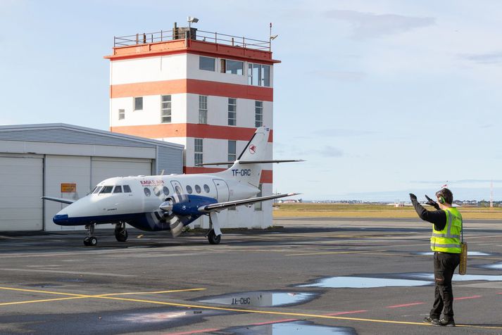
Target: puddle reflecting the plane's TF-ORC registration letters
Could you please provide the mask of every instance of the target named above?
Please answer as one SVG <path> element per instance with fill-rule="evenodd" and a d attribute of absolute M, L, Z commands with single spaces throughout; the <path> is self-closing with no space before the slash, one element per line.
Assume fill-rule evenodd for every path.
<path fill-rule="evenodd" d="M 316 293 L 252 291 L 224 294 L 199 301 L 220 305 L 272 307 L 298 305 L 312 300 L 316 295 Z"/>

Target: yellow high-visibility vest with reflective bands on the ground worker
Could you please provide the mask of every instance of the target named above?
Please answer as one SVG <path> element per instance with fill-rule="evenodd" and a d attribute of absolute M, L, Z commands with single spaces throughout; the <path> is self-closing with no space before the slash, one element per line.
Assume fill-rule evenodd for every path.
<path fill-rule="evenodd" d="M 446 225 L 443 230 L 436 230 L 432 225 L 431 250 L 444 253 L 460 253 L 460 232 L 462 215 L 456 208 L 445 208 Z"/>

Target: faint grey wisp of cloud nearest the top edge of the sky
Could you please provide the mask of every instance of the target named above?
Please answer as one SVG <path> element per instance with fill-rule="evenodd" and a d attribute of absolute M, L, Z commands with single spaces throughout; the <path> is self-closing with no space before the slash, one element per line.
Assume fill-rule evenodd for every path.
<path fill-rule="evenodd" d="M 408 32 L 415 28 L 434 25 L 434 18 L 415 18 L 396 14 L 375 14 L 358 11 L 326 11 L 325 16 L 348 21 L 354 26 L 355 39 L 370 39 L 389 34 Z"/>

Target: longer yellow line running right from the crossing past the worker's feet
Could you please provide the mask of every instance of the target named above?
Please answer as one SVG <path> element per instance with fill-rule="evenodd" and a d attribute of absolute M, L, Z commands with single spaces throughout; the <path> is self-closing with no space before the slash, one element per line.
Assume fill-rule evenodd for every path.
<path fill-rule="evenodd" d="M 201 309 L 206 309 L 206 310 L 225 310 L 227 312 L 247 312 L 247 313 L 268 314 L 268 315 L 287 315 L 287 316 L 294 316 L 294 317 L 313 317 L 313 318 L 334 319 L 334 320 L 378 322 L 378 323 L 389 323 L 389 324 L 413 324 L 416 326 L 431 326 L 431 324 L 426 324 L 424 322 L 363 319 L 360 317 L 337 317 L 337 316 L 330 316 L 330 315 L 306 314 L 306 313 L 296 313 L 296 312 L 272 312 L 269 310 L 246 310 L 244 308 L 223 308 L 223 307 L 211 307 L 211 306 L 203 306 L 203 305 L 187 305 L 184 303 L 165 303 L 163 301 L 149 301 L 149 300 L 131 299 L 131 298 L 101 297 L 101 299 L 133 301 L 136 303 L 152 303 L 152 304 L 156 304 L 156 305 L 169 305 L 169 306 L 186 307 L 186 308 L 201 308 Z M 502 327 L 471 326 L 469 324 L 457 324 L 457 327 L 470 327 L 470 328 L 479 328 L 479 329 L 502 329 Z"/>

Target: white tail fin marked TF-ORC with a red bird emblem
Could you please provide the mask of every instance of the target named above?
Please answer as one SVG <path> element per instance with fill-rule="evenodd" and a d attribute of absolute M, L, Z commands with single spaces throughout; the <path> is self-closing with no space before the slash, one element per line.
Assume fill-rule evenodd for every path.
<path fill-rule="evenodd" d="M 228 170 L 220 172 L 219 175 L 258 187 L 263 163 L 240 163 L 239 161 L 267 160 L 267 156 L 271 156 L 268 145 L 269 134 L 269 127 L 258 127 L 251 140 L 249 140 L 244 150 L 237 157 L 234 165 Z"/>

